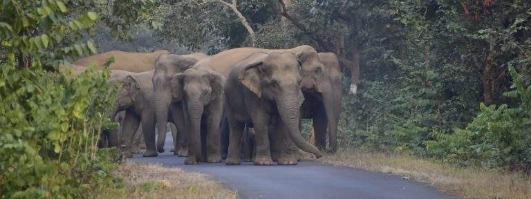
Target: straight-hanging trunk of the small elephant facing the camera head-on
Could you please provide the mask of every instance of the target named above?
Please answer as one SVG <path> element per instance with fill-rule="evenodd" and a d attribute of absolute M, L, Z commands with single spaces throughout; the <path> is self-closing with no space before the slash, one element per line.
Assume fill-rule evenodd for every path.
<path fill-rule="evenodd" d="M 203 115 L 203 105 L 198 102 L 187 104 L 189 125 L 188 129 L 188 155 L 201 157 L 201 116 Z"/>

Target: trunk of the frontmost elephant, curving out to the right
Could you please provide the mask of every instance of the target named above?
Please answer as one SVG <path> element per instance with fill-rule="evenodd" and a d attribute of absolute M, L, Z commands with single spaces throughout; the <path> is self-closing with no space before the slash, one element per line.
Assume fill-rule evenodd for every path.
<path fill-rule="evenodd" d="M 295 94 L 292 96 L 294 97 L 289 97 L 292 98 L 290 100 L 284 100 L 287 97 L 279 97 L 279 99 L 277 99 L 277 108 L 279 110 L 279 115 L 284 124 L 288 126 L 290 137 L 292 138 L 295 145 L 297 145 L 299 149 L 302 149 L 302 151 L 313 153 L 317 158 L 321 158 L 322 154 L 319 149 L 315 148 L 315 146 L 306 142 L 306 140 L 302 138 L 301 132 L 299 130 L 301 114 L 299 108 L 299 94 Z"/>

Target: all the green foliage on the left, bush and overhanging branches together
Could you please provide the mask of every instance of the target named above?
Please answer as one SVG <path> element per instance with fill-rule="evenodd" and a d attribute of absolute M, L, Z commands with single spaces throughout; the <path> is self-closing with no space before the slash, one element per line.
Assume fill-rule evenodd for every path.
<path fill-rule="evenodd" d="M 95 3 L 0 1 L 0 198 L 79 198 L 113 185 L 116 151 L 96 147 L 115 126 L 109 71 L 57 72 L 96 53 L 80 38 L 97 19 L 121 15 L 98 15 Z"/>

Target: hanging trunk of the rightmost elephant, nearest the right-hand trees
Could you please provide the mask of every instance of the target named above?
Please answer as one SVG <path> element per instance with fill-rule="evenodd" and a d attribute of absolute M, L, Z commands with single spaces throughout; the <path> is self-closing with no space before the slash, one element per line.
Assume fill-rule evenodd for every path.
<path fill-rule="evenodd" d="M 341 106 L 341 104 L 335 104 L 333 92 L 327 91 L 322 93 L 324 111 L 326 112 L 326 119 L 328 120 L 328 140 L 330 140 L 329 148 L 326 150 L 329 153 L 337 151 L 337 124 L 339 123 L 339 117 L 337 116 L 335 106 Z"/>

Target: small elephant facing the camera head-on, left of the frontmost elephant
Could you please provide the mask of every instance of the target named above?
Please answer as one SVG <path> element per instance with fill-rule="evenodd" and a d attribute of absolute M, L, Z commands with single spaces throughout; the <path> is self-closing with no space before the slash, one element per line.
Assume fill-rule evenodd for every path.
<path fill-rule="evenodd" d="M 221 162 L 219 129 L 224 84 L 225 76 L 204 64 L 177 73 L 171 79 L 171 93 L 175 100 L 182 102 L 188 133 L 185 164 L 205 162 L 205 158 L 209 163 Z"/>

